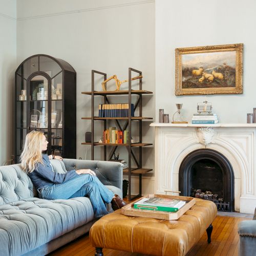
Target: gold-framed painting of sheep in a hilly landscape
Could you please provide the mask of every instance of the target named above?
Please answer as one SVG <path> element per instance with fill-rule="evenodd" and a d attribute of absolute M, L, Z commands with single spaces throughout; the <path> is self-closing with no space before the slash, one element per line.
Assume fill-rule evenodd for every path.
<path fill-rule="evenodd" d="M 243 44 L 176 48 L 175 58 L 175 95 L 243 93 Z"/>

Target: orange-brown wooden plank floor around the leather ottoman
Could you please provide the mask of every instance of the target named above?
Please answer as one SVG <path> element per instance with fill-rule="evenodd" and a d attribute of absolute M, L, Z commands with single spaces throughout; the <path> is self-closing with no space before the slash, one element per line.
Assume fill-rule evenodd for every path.
<path fill-rule="evenodd" d="M 207 234 L 204 233 L 199 242 L 188 252 L 188 256 L 193 255 L 238 255 L 238 223 L 248 218 L 217 216 L 212 223 L 214 229 L 211 234 L 211 243 L 207 243 Z M 93 256 L 95 248 L 91 246 L 89 235 L 84 235 L 77 240 L 59 248 L 49 255 L 91 255 Z M 131 253 L 125 251 L 117 251 L 111 249 L 103 249 L 104 256 L 135 256 L 142 255 L 139 253 Z"/>

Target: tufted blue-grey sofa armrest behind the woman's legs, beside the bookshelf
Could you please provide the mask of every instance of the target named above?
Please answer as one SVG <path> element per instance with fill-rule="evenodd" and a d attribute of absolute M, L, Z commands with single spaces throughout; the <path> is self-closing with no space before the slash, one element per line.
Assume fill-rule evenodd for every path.
<path fill-rule="evenodd" d="M 104 185 L 121 189 L 123 185 L 123 164 L 113 161 L 63 159 L 67 170 L 91 169 Z"/>

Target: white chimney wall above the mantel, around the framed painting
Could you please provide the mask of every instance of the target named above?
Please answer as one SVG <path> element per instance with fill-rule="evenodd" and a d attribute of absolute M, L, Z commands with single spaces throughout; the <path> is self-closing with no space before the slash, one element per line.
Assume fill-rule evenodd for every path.
<path fill-rule="evenodd" d="M 175 48 L 244 44 L 242 95 L 209 95 L 222 123 L 245 123 L 255 102 L 256 2 L 247 0 L 156 0 L 156 119 L 158 109 L 172 115 L 183 103 L 183 116 L 191 121 L 197 102 L 205 96 L 175 96 Z"/>

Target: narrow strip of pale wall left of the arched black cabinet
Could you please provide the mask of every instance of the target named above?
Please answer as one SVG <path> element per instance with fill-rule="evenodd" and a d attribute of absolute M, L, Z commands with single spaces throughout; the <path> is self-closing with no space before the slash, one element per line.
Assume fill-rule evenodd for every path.
<path fill-rule="evenodd" d="M 0 0 L 0 165 L 14 154 L 14 72 L 16 0 Z"/>

